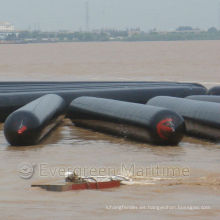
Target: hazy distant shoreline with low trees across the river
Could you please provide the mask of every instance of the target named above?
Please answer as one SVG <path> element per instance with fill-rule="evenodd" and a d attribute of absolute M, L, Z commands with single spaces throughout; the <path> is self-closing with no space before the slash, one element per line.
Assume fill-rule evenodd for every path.
<path fill-rule="evenodd" d="M 0 33 L 0 44 L 70 43 L 70 42 L 145 42 L 220 40 L 220 30 L 179 30 L 144 32 L 140 30 L 103 30 L 94 32 L 20 31 Z"/>

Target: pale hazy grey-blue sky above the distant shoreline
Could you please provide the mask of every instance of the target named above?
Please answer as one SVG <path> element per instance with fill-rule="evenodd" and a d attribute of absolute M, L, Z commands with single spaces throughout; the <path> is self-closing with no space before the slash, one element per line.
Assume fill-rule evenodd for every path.
<path fill-rule="evenodd" d="M 0 0 L 0 21 L 19 29 L 85 29 L 86 0 Z M 88 0 L 90 29 L 220 26 L 220 0 Z"/>

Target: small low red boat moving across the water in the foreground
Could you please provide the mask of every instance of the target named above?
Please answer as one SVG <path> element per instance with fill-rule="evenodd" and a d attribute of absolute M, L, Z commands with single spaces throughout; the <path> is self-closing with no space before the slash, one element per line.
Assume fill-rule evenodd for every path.
<path fill-rule="evenodd" d="M 40 187 L 47 191 L 70 191 L 70 190 L 100 190 L 119 187 L 122 181 L 129 181 L 123 176 L 90 176 L 80 177 L 72 172 L 65 173 L 65 181 L 44 184 L 32 184 L 31 187 Z"/>

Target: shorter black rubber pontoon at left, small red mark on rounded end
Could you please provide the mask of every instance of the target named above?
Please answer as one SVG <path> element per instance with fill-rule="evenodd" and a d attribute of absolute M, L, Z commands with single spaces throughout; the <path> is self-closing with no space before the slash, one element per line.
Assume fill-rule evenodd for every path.
<path fill-rule="evenodd" d="M 13 112 L 5 121 L 4 134 L 14 146 L 37 144 L 64 117 L 65 101 L 45 95 Z"/>

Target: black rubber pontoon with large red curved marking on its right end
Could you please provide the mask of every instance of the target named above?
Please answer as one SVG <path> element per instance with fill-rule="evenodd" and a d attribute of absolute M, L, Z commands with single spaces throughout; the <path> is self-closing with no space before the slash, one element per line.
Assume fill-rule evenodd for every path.
<path fill-rule="evenodd" d="M 103 98 L 77 98 L 67 116 L 76 126 L 158 145 L 178 144 L 185 129 L 183 118 L 170 110 Z"/>

